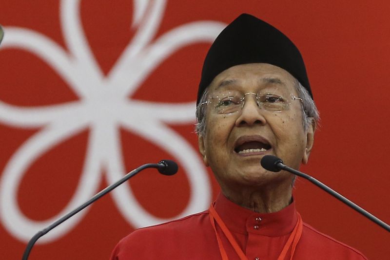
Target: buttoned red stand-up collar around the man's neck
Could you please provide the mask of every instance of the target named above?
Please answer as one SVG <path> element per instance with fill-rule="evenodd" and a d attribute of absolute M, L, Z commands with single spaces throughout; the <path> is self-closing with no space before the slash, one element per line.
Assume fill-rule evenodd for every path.
<path fill-rule="evenodd" d="M 292 232 L 298 219 L 294 200 L 278 212 L 257 213 L 233 203 L 219 193 L 215 210 L 231 232 L 241 234 L 283 236 Z"/>

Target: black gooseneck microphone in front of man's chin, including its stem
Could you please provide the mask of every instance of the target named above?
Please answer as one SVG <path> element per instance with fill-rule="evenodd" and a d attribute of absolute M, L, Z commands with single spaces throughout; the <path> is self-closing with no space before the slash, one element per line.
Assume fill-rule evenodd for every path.
<path fill-rule="evenodd" d="M 285 171 L 291 172 L 292 174 L 295 174 L 299 177 L 305 178 L 306 180 L 313 183 L 315 186 L 318 186 L 321 189 L 328 192 L 329 194 L 331 194 L 333 197 L 335 197 L 339 201 L 343 202 L 344 204 L 347 204 L 348 206 L 350 206 L 351 208 L 353 208 L 354 210 L 356 210 L 357 212 L 359 212 L 360 214 L 362 214 L 363 216 L 368 218 L 370 221 L 378 224 L 379 226 L 383 227 L 384 229 L 386 229 L 387 231 L 390 232 L 390 225 L 389 224 L 381 221 L 380 219 L 378 219 L 377 217 L 372 215 L 370 212 L 364 210 L 363 208 L 361 208 L 357 204 L 354 204 L 349 199 L 342 196 L 340 193 L 331 189 L 330 187 L 326 186 L 325 184 L 321 183 L 320 181 L 313 178 L 312 176 L 310 176 L 306 173 L 303 173 L 301 171 L 298 171 L 296 169 L 293 169 L 291 167 L 285 166 L 283 164 L 283 161 L 280 158 L 273 156 L 273 155 L 265 155 L 263 158 L 261 158 L 260 164 L 263 168 L 265 168 L 266 170 L 269 170 L 269 171 L 278 172 L 280 170 L 285 170 Z"/>

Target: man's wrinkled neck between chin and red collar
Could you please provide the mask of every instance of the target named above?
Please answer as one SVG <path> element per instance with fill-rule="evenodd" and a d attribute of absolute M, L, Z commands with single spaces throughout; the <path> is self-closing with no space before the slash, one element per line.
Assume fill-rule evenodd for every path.
<path fill-rule="evenodd" d="M 245 187 L 227 189 L 222 193 L 232 202 L 258 213 L 272 213 L 292 203 L 292 186 Z"/>

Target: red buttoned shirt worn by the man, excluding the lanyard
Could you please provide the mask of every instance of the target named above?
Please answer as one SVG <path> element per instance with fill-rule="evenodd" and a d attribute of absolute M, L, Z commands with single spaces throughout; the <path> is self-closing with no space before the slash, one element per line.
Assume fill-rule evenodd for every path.
<path fill-rule="evenodd" d="M 294 202 L 278 212 L 256 213 L 219 194 L 215 210 L 249 260 L 276 260 L 297 222 Z M 217 231 L 229 260 L 239 259 L 218 226 Z M 111 256 L 111 260 L 138 259 L 221 259 L 209 211 L 138 229 L 122 239 Z M 367 260 L 356 249 L 306 223 L 293 259 Z"/>

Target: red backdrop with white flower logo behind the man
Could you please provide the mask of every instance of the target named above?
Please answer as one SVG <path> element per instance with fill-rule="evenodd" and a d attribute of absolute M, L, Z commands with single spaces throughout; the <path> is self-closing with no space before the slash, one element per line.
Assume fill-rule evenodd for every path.
<path fill-rule="evenodd" d="M 162 158 L 39 240 L 30 259 L 108 259 L 135 227 L 201 211 L 218 193 L 193 133 L 210 42 L 242 12 L 301 50 L 321 126 L 302 170 L 390 222 L 390 5 L 387 1 L 1 1 L 0 255 L 19 259 L 60 214 Z M 370 260 L 390 235 L 304 180 L 305 222 Z"/>

